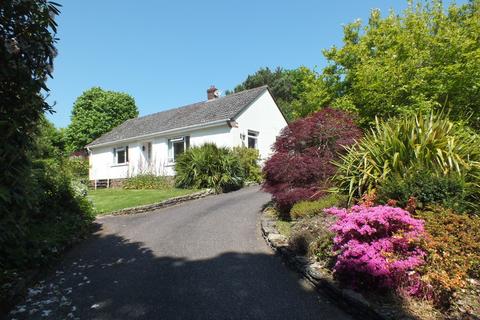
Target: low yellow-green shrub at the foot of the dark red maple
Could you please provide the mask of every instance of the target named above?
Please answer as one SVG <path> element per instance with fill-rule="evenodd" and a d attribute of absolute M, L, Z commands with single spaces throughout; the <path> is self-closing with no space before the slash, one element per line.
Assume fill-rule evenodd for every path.
<path fill-rule="evenodd" d="M 331 207 L 345 207 L 347 197 L 331 193 L 315 201 L 300 201 L 293 205 L 290 210 L 290 217 L 293 219 L 313 217 L 323 214 L 323 209 Z"/>

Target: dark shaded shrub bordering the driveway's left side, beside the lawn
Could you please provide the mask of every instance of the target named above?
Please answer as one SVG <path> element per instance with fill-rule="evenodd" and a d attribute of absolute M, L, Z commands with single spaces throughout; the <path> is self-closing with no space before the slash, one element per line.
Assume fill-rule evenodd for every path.
<path fill-rule="evenodd" d="M 73 181 L 62 161 L 33 161 L 30 197 L 34 205 L 23 221 L 25 231 L 17 246 L 2 248 L 3 269 L 42 266 L 90 230 L 92 205 L 81 190 L 84 186 Z"/>

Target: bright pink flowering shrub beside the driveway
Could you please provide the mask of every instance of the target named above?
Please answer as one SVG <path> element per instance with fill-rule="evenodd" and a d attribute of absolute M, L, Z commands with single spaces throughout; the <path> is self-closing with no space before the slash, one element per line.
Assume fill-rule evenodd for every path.
<path fill-rule="evenodd" d="M 419 245 L 425 236 L 423 220 L 390 206 L 357 205 L 325 211 L 338 218 L 331 230 L 338 252 L 334 272 L 339 280 L 354 288 L 418 285 L 410 280 L 426 255 Z M 412 287 L 409 293 L 415 291 Z"/>

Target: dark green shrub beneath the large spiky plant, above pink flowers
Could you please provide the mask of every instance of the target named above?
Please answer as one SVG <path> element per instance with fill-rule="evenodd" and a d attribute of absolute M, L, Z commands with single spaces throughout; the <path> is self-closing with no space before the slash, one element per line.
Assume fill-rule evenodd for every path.
<path fill-rule="evenodd" d="M 418 208 L 438 204 L 462 212 L 468 208 L 468 188 L 458 175 L 438 176 L 427 170 L 416 171 L 405 177 L 386 179 L 377 189 L 378 201 L 396 200 L 404 208 L 414 197 Z"/>

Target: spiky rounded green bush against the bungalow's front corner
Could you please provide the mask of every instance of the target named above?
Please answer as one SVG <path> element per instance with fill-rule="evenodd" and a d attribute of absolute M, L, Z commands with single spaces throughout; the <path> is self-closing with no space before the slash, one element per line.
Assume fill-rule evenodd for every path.
<path fill-rule="evenodd" d="M 175 163 L 180 188 L 212 188 L 217 192 L 239 189 L 245 181 L 240 159 L 228 148 L 207 143 L 183 153 Z"/>

